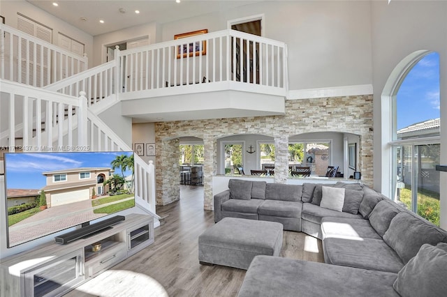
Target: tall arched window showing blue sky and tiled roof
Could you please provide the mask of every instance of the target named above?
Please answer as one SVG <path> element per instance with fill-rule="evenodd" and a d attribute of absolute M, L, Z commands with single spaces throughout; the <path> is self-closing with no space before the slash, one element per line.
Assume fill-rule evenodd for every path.
<path fill-rule="evenodd" d="M 439 226 L 439 54 L 423 52 L 407 63 L 390 112 L 390 197 Z"/>

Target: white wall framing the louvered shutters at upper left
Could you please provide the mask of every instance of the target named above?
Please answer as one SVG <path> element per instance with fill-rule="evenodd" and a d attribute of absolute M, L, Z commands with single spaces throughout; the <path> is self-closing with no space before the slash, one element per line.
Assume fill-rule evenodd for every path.
<path fill-rule="evenodd" d="M 71 26 L 63 20 L 50 15 L 41 10 L 31 3 L 24 0 L 17 1 L 0 1 L 1 15 L 5 17 L 5 24 L 17 29 L 17 13 L 22 13 L 36 22 L 45 24 L 52 29 L 52 43 L 57 45 L 58 32 L 63 33 L 66 36 L 70 36 L 72 39 L 77 40 L 85 45 L 85 53 L 89 58 L 89 68 L 93 65 L 93 36 L 81 31 L 80 29 Z"/>

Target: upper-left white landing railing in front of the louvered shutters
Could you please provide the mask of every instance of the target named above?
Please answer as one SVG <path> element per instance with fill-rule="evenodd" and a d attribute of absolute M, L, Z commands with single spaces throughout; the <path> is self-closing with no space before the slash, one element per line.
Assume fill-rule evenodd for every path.
<path fill-rule="evenodd" d="M 86 70 L 88 59 L 1 24 L 0 68 L 1 79 L 43 87 Z"/>

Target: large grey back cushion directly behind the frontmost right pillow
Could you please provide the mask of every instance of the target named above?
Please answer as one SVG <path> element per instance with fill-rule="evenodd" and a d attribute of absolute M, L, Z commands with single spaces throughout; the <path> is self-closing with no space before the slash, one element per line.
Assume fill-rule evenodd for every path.
<path fill-rule="evenodd" d="M 444 234 L 434 224 L 404 211 L 395 215 L 383 235 L 383 241 L 397 252 L 404 263 L 416 256 L 424 243 L 436 245 L 443 238 Z"/>

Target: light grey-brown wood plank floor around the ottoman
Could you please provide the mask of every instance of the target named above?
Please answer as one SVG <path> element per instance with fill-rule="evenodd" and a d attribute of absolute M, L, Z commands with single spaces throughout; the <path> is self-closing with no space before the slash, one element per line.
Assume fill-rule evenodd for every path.
<path fill-rule="evenodd" d="M 203 211 L 203 187 L 182 185 L 180 201 L 156 212 L 165 224 L 155 229 L 153 245 L 66 296 L 235 296 L 246 271 L 198 263 L 198 236 L 214 224 L 213 212 Z M 283 238 L 281 257 L 323 262 L 318 239 L 292 231 Z M 119 281 L 110 283 L 113 273 Z"/>

